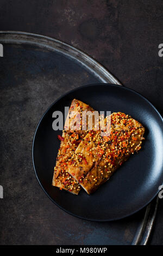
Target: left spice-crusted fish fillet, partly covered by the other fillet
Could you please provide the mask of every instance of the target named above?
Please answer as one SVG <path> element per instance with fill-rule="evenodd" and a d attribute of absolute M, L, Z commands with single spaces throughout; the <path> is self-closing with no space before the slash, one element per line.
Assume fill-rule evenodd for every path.
<path fill-rule="evenodd" d="M 72 154 L 78 147 L 81 140 L 85 137 L 86 130 L 67 130 L 68 124 L 73 123 L 76 115 L 74 112 L 80 113 L 82 117 L 83 111 L 93 111 L 89 105 L 85 104 L 82 101 L 74 99 L 71 103 L 66 121 L 64 130 L 62 132 L 60 148 L 57 155 L 57 161 L 54 167 L 54 175 L 52 185 L 59 187 L 61 190 L 67 190 L 73 194 L 78 194 L 81 187 L 78 182 L 72 178 L 67 172 L 68 164 L 73 162 Z M 82 125 L 82 120 L 80 120 L 80 125 Z M 71 127 L 71 126 L 70 126 Z"/>

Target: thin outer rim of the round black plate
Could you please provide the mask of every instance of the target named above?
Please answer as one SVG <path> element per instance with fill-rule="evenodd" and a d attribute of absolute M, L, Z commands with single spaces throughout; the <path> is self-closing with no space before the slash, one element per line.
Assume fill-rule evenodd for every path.
<path fill-rule="evenodd" d="M 84 85 L 84 86 L 80 86 L 80 87 L 74 88 L 74 89 L 68 91 L 67 93 L 61 95 L 61 96 L 60 96 L 57 100 L 55 100 L 55 101 L 46 109 L 46 111 L 43 113 L 42 117 L 40 118 L 39 123 L 38 123 L 37 126 L 36 126 L 36 130 L 35 130 L 34 137 L 33 137 L 33 143 L 32 143 L 32 162 L 33 162 L 33 167 L 34 167 L 34 172 L 35 172 L 35 175 L 36 175 L 36 179 L 37 179 L 37 181 L 39 181 L 39 184 L 40 184 L 40 186 L 41 186 L 43 192 L 45 192 L 46 195 L 48 196 L 48 198 L 51 199 L 52 202 L 53 202 L 55 205 L 57 205 L 61 210 L 64 210 L 65 212 L 67 212 L 68 214 L 71 214 L 71 215 L 74 216 L 74 217 L 78 217 L 78 218 L 81 218 L 81 219 L 87 220 L 87 221 L 110 222 L 110 221 L 122 220 L 123 218 L 126 218 L 126 217 L 129 217 L 129 216 L 131 216 L 131 215 L 136 214 L 136 212 L 142 210 L 142 209 L 145 208 L 147 205 L 149 205 L 149 203 L 152 202 L 152 200 L 158 195 L 159 190 L 156 191 L 156 193 L 154 194 L 154 196 L 153 196 L 151 199 L 149 199 L 148 202 L 147 202 L 145 205 L 143 205 L 141 208 L 137 209 L 136 211 L 131 212 L 130 214 L 124 215 L 124 216 L 122 216 L 122 217 L 109 218 L 109 219 L 103 219 L 103 220 L 101 220 L 101 219 L 95 219 L 95 218 L 86 218 L 86 217 L 83 217 L 83 216 L 79 216 L 79 215 L 73 214 L 72 212 L 70 212 L 70 211 L 68 211 L 68 210 L 66 210 L 66 209 L 64 209 L 64 208 L 62 208 L 62 206 L 60 206 L 57 202 L 55 202 L 55 200 L 54 200 L 53 198 L 51 198 L 51 196 L 48 194 L 48 192 L 46 192 L 45 188 L 43 188 L 43 186 L 42 186 L 42 184 L 41 184 L 41 182 L 40 182 L 40 180 L 39 180 L 39 178 L 38 178 L 38 176 L 37 176 L 36 169 L 35 169 L 35 164 L 34 164 L 34 142 L 35 142 L 35 136 L 36 136 L 37 130 L 39 129 L 39 126 L 40 126 L 40 124 L 41 124 L 42 119 L 44 118 L 44 116 L 46 115 L 46 113 L 49 111 L 49 109 L 51 109 L 52 106 L 55 105 L 55 103 L 57 103 L 60 99 L 62 99 L 62 97 L 65 97 L 65 96 L 67 96 L 68 94 L 71 94 L 71 93 L 73 93 L 73 92 L 76 92 L 78 89 L 82 89 L 82 88 L 86 88 L 86 87 L 91 87 L 91 86 L 100 86 L 100 85 L 108 86 L 108 88 L 109 88 L 109 86 L 114 86 L 114 87 L 117 87 L 117 88 L 122 88 L 122 90 L 123 90 L 123 89 L 124 89 L 124 90 L 128 90 L 128 91 L 130 91 L 130 92 L 133 92 L 133 93 L 139 95 L 140 97 L 142 97 L 143 100 L 145 100 L 146 102 L 149 103 L 149 105 L 152 106 L 152 108 L 155 110 L 155 112 L 159 115 L 159 117 L 160 117 L 160 119 L 161 119 L 161 121 L 162 121 L 162 124 L 163 124 L 162 115 L 159 113 L 159 111 L 156 109 L 156 107 L 155 107 L 155 106 L 151 103 L 151 101 L 149 101 L 145 96 L 143 96 L 143 95 L 140 94 L 140 93 L 137 93 L 135 90 L 130 89 L 130 88 L 125 87 L 125 86 L 123 86 L 123 87 L 121 86 L 121 87 L 120 87 L 120 86 L 117 85 L 117 84 L 111 84 L 111 83 L 93 83 L 93 84 L 86 84 L 86 85 Z M 163 126 L 162 126 L 162 127 L 163 127 Z M 163 128 L 162 128 L 162 133 L 163 133 Z M 163 170 L 162 170 L 162 172 L 163 172 Z M 162 181 L 162 184 L 163 184 L 163 181 Z"/>

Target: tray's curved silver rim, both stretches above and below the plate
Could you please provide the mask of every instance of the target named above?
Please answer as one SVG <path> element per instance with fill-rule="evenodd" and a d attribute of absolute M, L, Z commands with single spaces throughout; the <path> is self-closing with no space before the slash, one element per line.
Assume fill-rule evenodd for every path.
<path fill-rule="evenodd" d="M 10 38 L 8 38 L 10 35 Z M 18 38 L 17 38 L 18 37 Z M 20 39 L 21 37 L 21 39 Z M 76 59 L 80 64 L 84 65 L 87 69 L 89 69 L 93 74 L 97 77 L 101 78 L 104 83 L 114 83 L 122 84 L 110 74 L 108 70 L 106 70 L 101 64 L 99 64 L 96 60 L 92 59 L 86 53 L 74 48 L 71 45 L 66 44 L 57 39 L 53 39 L 49 36 L 28 33 L 28 32 L 20 32 L 20 31 L 0 31 L 0 40 L 6 44 L 32 44 L 37 45 L 40 48 L 46 48 L 51 51 L 58 51 L 64 53 L 66 56 Z M 19 42 L 18 42 L 18 41 Z M 147 208 L 145 216 L 137 230 L 137 233 L 134 237 L 132 245 L 146 245 L 149 236 L 151 234 L 151 230 L 153 227 L 153 223 L 156 216 L 156 211 L 158 208 L 158 198 L 153 200 Z"/>

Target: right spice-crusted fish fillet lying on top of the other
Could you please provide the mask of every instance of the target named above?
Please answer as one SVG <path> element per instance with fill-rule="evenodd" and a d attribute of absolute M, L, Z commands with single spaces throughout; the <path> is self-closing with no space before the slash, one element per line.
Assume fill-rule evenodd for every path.
<path fill-rule="evenodd" d="M 100 130 L 90 131 L 76 149 L 75 162 L 68 166 L 68 173 L 88 194 L 94 192 L 141 149 L 144 132 L 142 124 L 129 115 L 112 113 L 110 135 L 102 137 Z"/>

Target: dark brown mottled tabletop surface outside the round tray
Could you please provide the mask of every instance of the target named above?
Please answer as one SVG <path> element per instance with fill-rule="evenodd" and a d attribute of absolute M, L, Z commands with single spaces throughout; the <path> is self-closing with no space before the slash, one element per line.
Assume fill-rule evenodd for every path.
<path fill-rule="evenodd" d="M 0 30 L 48 35 L 83 50 L 163 113 L 161 0 L 1 0 L 0 13 Z M 160 200 L 149 241 L 155 245 L 163 244 L 162 208 Z"/>

